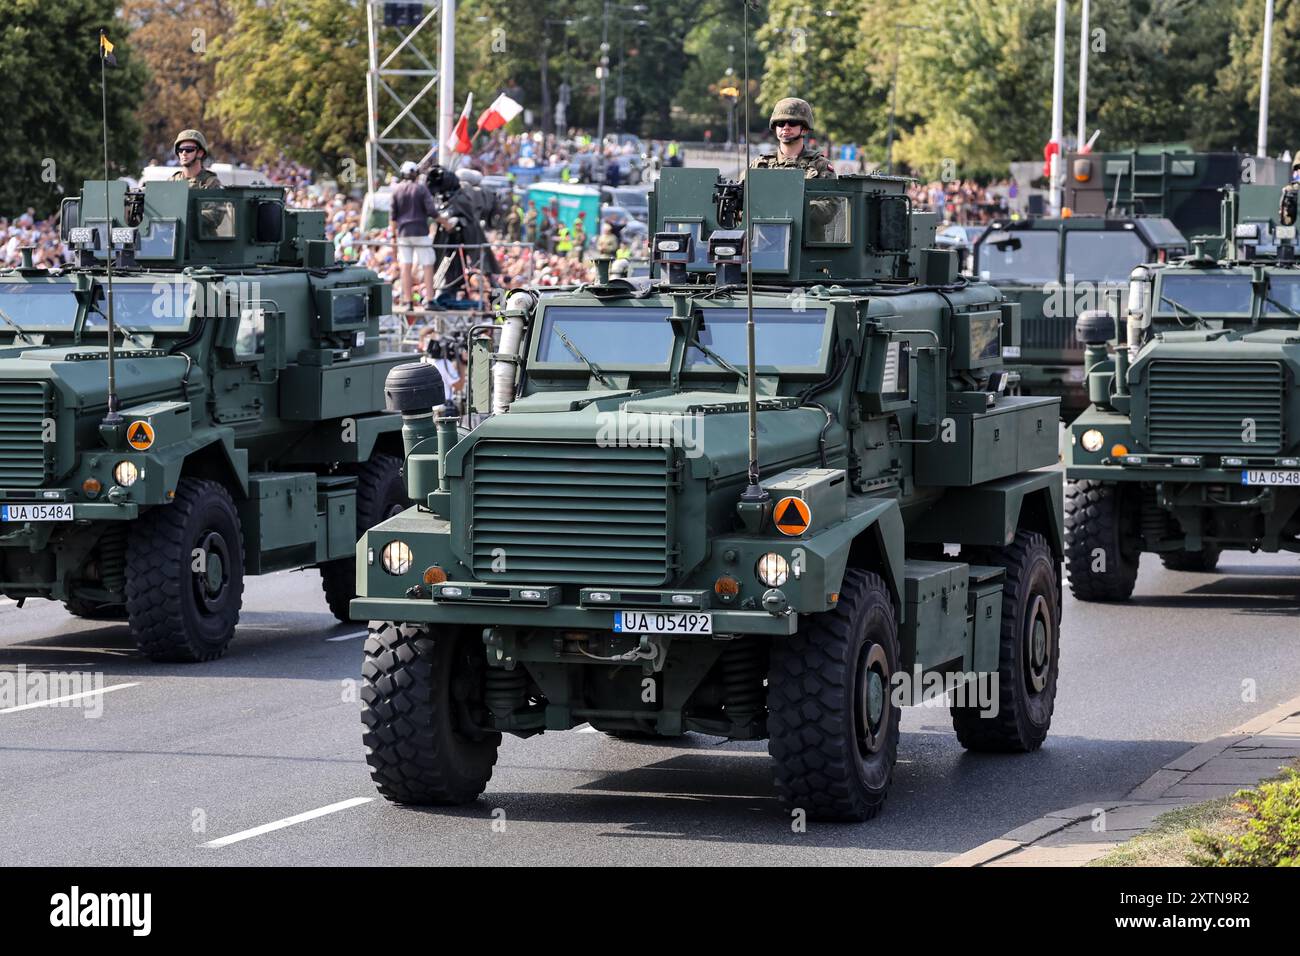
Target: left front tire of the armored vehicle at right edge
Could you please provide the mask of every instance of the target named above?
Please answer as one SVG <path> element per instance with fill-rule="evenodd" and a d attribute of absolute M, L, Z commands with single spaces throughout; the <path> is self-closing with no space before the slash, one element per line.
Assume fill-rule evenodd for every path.
<path fill-rule="evenodd" d="M 1065 562 L 1080 601 L 1127 601 L 1138 583 L 1141 538 L 1138 499 L 1104 481 L 1065 489 Z"/>

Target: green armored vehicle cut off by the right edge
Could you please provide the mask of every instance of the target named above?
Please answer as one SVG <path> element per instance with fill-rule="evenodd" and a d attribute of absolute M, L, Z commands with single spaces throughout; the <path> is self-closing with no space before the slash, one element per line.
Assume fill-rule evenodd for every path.
<path fill-rule="evenodd" d="M 1300 268 L 1279 195 L 1228 193 L 1225 259 L 1139 267 L 1122 319 L 1079 319 L 1092 405 L 1066 451 L 1075 597 L 1128 598 L 1144 551 L 1179 571 L 1300 551 Z"/>

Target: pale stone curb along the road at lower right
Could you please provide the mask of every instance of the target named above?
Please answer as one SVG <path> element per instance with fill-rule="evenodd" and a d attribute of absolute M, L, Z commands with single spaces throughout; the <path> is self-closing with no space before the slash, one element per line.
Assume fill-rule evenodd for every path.
<path fill-rule="evenodd" d="M 1020 853 L 1030 855 L 1030 851 L 1046 838 L 1069 830 L 1076 823 L 1089 821 L 1096 817 L 1098 812 L 1109 813 L 1121 808 L 1143 805 L 1169 805 L 1170 809 L 1173 809 L 1174 806 L 1192 803 L 1191 799 L 1171 797 L 1169 793 L 1173 788 L 1183 784 L 1187 778 L 1204 767 L 1212 760 L 1222 757 L 1234 747 L 1249 740 L 1251 737 L 1268 736 L 1265 731 L 1269 731 L 1283 721 L 1296 715 L 1300 715 L 1300 696 L 1292 697 L 1284 704 L 1279 704 L 1257 717 L 1252 717 L 1245 723 L 1234 727 L 1226 734 L 1221 734 L 1217 737 L 1197 744 L 1139 783 L 1121 800 L 1098 800 L 1096 804 L 1076 804 L 1075 806 L 1067 806 L 1061 810 L 1052 810 L 1050 813 L 1043 814 L 1037 819 L 1032 819 L 1028 823 L 1023 823 L 1014 830 L 1002 834 L 1002 836 L 996 840 L 988 840 L 978 847 L 974 847 L 972 849 L 966 851 L 965 853 L 954 856 L 952 860 L 945 860 L 939 864 L 939 866 L 987 866 L 989 864 L 1014 865 L 1010 864 L 1008 857 Z M 1141 827 L 1141 830 L 1145 830 L 1145 827 Z M 1086 856 L 1092 858 L 1101 856 L 1112 847 L 1124 843 L 1135 835 L 1136 832 L 1124 832 L 1114 840 L 1088 840 L 1092 849 L 1089 849 Z M 1087 861 L 1076 852 L 1070 856 L 1062 856 L 1057 862 L 1053 862 L 1049 857 L 1050 853 L 1043 853 L 1041 860 L 1035 860 L 1034 862 L 1027 861 L 1026 865 L 1076 866 Z"/>

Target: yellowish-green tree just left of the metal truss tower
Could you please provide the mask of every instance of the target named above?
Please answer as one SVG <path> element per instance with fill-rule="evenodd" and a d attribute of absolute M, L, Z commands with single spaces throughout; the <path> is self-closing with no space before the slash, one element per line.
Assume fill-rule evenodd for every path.
<path fill-rule="evenodd" d="M 217 95 L 207 116 L 263 160 L 365 166 L 365 5 L 359 0 L 231 0 L 234 25 L 208 48 Z"/>

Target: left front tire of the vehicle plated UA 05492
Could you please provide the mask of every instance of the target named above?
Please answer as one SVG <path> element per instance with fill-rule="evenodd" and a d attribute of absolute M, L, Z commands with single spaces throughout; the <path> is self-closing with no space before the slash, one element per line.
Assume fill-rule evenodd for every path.
<path fill-rule="evenodd" d="M 387 800 L 468 804 L 484 792 L 500 745 L 500 734 L 481 730 L 486 669 L 472 628 L 370 626 L 361 740 L 370 778 Z"/>

